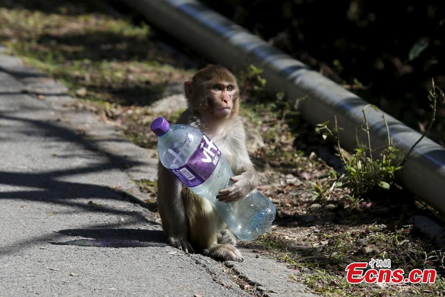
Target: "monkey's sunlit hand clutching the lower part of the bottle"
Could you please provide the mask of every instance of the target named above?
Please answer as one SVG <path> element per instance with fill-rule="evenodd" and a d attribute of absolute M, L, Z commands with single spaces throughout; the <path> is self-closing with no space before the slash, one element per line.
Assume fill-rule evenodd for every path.
<path fill-rule="evenodd" d="M 218 192 L 217 199 L 224 202 L 234 202 L 246 197 L 257 186 L 257 175 L 255 171 L 246 171 L 241 175 L 232 176 L 230 181 L 233 185 L 230 188 Z"/>

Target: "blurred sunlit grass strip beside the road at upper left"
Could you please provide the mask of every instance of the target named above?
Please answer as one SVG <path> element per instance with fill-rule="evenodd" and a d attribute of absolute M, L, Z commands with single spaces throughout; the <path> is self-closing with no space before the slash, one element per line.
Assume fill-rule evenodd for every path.
<path fill-rule="evenodd" d="M 175 59 L 155 46 L 145 23 L 100 12 L 0 8 L 0 38 L 10 53 L 81 99 L 147 105 L 192 73 L 172 66 Z"/>

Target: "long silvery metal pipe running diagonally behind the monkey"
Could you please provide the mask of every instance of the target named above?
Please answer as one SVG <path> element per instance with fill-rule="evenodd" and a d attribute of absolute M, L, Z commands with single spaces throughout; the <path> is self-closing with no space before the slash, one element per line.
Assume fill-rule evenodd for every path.
<path fill-rule="evenodd" d="M 356 147 L 355 130 L 368 104 L 307 65 L 268 45 L 257 36 L 195 0 L 124 0 L 156 27 L 209 59 L 230 69 L 249 64 L 264 69 L 262 77 L 275 91 L 285 92 L 312 125 L 337 117 L 341 145 Z M 304 100 L 299 100 L 305 98 Z M 407 152 L 420 134 L 394 117 L 366 109 L 373 148 L 386 145 L 385 114 L 393 144 Z M 398 179 L 417 197 L 445 212 L 445 148 L 428 138 L 412 151 Z"/>

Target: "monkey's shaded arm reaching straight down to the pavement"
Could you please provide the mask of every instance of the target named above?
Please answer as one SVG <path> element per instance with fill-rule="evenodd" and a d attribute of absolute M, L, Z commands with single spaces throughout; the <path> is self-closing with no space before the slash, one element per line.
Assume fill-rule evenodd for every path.
<path fill-rule="evenodd" d="M 161 164 L 158 169 L 157 202 L 162 228 L 167 233 L 170 245 L 194 253 L 187 240 L 187 217 L 181 198 L 182 185 L 176 176 Z"/>

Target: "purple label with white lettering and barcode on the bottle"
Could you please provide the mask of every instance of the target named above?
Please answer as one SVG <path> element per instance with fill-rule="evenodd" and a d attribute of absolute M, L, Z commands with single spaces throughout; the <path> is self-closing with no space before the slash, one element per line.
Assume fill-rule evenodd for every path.
<path fill-rule="evenodd" d="M 213 173 L 221 158 L 221 151 L 205 135 L 195 152 L 181 167 L 170 169 L 184 186 L 192 188 L 204 183 Z"/>

